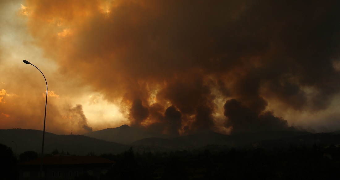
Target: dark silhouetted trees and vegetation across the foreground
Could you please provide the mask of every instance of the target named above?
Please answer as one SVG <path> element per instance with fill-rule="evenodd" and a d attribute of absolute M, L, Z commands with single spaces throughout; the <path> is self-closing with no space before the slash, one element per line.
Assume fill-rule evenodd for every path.
<path fill-rule="evenodd" d="M 28 151 L 20 154 L 17 160 L 11 148 L 2 144 L 0 147 L 1 179 L 17 179 L 16 163 L 38 155 Z M 334 145 L 291 144 L 251 149 L 210 145 L 203 150 L 157 153 L 135 153 L 130 148 L 120 154 L 100 156 L 116 162 L 101 180 L 340 179 L 340 148 Z M 95 178 L 82 176 L 76 179 Z"/>

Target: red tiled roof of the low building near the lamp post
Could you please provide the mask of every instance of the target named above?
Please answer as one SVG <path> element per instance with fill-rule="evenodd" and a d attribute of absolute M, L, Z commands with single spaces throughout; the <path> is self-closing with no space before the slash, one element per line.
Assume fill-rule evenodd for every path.
<path fill-rule="evenodd" d="M 56 164 L 112 164 L 114 161 L 99 156 L 49 156 L 44 157 L 44 165 Z M 18 163 L 18 165 L 40 165 L 40 158 Z"/>

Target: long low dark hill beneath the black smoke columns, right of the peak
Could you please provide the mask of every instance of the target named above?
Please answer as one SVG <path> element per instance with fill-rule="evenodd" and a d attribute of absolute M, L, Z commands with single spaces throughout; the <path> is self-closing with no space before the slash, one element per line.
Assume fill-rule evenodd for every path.
<path fill-rule="evenodd" d="M 216 132 L 204 132 L 174 138 L 144 138 L 130 145 L 138 151 L 174 151 L 200 149 L 207 145 L 223 145 L 229 147 L 252 147 L 253 143 L 285 139 L 295 136 L 310 135 L 309 132 L 297 131 L 264 131 L 253 133 L 235 133 L 225 135 Z"/>

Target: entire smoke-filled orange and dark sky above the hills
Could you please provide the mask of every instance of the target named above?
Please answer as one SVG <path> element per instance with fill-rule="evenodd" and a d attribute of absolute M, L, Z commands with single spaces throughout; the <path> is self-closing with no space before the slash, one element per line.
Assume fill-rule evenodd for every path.
<path fill-rule="evenodd" d="M 0 0 L 0 129 L 340 130 L 337 0 Z"/>

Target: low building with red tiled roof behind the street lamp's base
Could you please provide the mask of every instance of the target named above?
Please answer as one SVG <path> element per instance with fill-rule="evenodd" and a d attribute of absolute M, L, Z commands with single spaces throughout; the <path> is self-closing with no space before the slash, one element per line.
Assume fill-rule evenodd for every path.
<path fill-rule="evenodd" d="M 85 174 L 100 178 L 114 164 L 98 156 L 51 156 L 43 160 L 42 176 L 48 180 L 71 180 Z M 40 158 L 19 163 L 18 167 L 20 180 L 38 179 Z"/>

